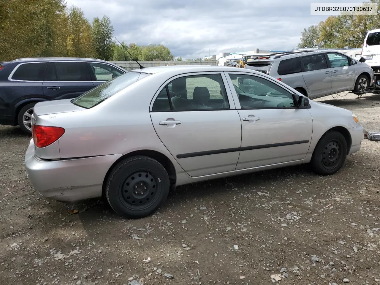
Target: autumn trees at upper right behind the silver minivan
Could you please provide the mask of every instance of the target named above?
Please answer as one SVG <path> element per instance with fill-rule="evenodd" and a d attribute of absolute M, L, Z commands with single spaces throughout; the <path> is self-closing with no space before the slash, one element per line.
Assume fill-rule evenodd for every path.
<path fill-rule="evenodd" d="M 298 48 L 361 48 L 367 31 L 380 28 L 379 0 L 363 3 L 377 3 L 377 15 L 329 16 L 326 21 L 304 28 Z"/>

